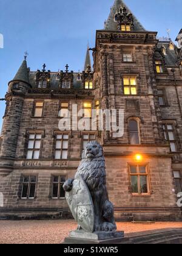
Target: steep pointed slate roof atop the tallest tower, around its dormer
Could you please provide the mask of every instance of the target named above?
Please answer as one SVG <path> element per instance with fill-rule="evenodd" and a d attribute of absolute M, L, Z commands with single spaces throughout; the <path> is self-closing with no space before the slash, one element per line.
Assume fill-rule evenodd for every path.
<path fill-rule="evenodd" d="M 123 0 L 115 0 L 112 9 L 110 10 L 110 15 L 108 20 L 105 23 L 104 29 L 105 30 L 118 30 L 117 28 L 117 22 L 115 21 L 115 15 L 118 10 L 121 8 L 126 8 L 126 12 L 133 13 L 130 11 L 130 9 L 127 7 L 127 5 L 124 3 Z M 141 25 L 141 23 L 136 19 L 135 15 L 133 15 L 133 30 L 135 31 L 144 31 L 144 27 Z"/>

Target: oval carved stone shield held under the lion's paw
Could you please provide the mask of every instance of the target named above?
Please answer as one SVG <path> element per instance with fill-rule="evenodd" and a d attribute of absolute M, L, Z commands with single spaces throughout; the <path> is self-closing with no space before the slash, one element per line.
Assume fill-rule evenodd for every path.
<path fill-rule="evenodd" d="M 90 191 L 82 176 L 73 181 L 73 188 L 66 192 L 66 201 L 79 226 L 86 232 L 94 229 L 94 208 Z"/>

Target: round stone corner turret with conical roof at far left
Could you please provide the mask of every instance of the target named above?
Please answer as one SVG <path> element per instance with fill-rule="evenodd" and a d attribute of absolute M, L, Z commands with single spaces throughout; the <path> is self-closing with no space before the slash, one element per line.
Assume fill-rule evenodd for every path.
<path fill-rule="evenodd" d="M 8 175 L 14 165 L 24 96 L 29 90 L 29 70 L 24 60 L 16 76 L 8 83 L 6 109 L 1 132 L 0 177 Z"/>

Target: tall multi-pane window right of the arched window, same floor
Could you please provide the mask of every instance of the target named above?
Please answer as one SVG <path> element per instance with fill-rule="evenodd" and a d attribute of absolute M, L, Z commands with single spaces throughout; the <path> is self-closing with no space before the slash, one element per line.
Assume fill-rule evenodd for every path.
<path fill-rule="evenodd" d="M 164 137 L 170 144 L 170 151 L 177 152 L 177 139 L 175 136 L 175 129 L 173 124 L 164 124 Z"/>

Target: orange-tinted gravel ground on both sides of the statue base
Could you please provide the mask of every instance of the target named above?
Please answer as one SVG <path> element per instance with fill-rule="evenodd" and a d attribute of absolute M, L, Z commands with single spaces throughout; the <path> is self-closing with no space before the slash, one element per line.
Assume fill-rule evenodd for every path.
<path fill-rule="evenodd" d="M 166 228 L 182 228 L 182 222 L 155 224 L 117 223 L 118 230 L 128 233 Z M 0 244 L 59 244 L 76 229 L 74 221 L 0 221 Z"/>

